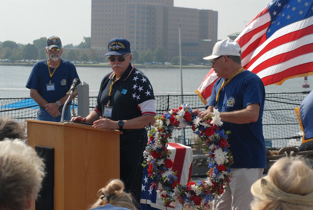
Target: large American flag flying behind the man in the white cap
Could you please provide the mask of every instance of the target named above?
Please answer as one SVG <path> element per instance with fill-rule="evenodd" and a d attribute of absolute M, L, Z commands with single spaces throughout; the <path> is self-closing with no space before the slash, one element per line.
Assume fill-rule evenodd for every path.
<path fill-rule="evenodd" d="M 312 15 L 312 0 L 269 3 L 235 39 L 244 69 L 257 74 L 264 85 L 313 75 Z M 211 69 L 195 91 L 204 105 L 217 79 Z"/>

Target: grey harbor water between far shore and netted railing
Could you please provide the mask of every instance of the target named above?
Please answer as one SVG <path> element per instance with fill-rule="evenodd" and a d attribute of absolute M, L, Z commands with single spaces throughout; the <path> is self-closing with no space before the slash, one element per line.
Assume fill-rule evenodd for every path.
<path fill-rule="evenodd" d="M 136 65 L 135 65 L 136 67 Z M 182 68 L 182 92 L 184 95 L 195 94 L 209 71 L 205 68 Z M 0 65 L 0 98 L 28 97 L 29 90 L 25 87 L 32 67 Z M 151 82 L 155 95 L 181 95 L 181 71 L 177 69 L 138 68 L 146 74 Z M 97 96 L 102 78 L 112 69 L 108 67 L 77 67 L 81 81 L 89 85 L 90 96 Z M 289 93 L 312 90 L 313 76 L 308 77 L 310 88 L 302 88 L 304 78 L 286 80 L 282 85 L 265 86 L 267 93 Z"/>

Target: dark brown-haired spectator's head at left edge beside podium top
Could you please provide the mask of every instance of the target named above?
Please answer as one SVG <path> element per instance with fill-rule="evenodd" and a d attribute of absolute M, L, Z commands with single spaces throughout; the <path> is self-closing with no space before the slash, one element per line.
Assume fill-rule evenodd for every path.
<path fill-rule="evenodd" d="M 0 117 L 0 141 L 4 138 L 26 139 L 25 124 L 17 122 L 8 116 Z"/>

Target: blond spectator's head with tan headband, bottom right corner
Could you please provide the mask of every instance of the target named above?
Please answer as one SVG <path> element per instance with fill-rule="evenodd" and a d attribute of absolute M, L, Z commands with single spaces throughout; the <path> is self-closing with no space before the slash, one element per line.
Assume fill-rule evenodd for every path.
<path fill-rule="evenodd" d="M 280 158 L 251 187 L 252 210 L 313 209 L 313 170 L 304 157 Z"/>

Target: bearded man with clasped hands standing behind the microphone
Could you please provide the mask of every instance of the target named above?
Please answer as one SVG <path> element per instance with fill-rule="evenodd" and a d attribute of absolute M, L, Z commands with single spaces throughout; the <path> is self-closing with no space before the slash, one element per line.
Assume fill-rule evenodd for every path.
<path fill-rule="evenodd" d="M 63 46 L 57 36 L 47 40 L 46 53 L 49 58 L 33 66 L 26 87 L 30 97 L 39 105 L 37 120 L 60 122 L 61 113 L 74 79 L 79 79 L 72 62 L 61 59 Z M 74 98 L 72 95 L 71 100 Z M 64 119 L 69 118 L 69 105 L 65 105 Z"/>

